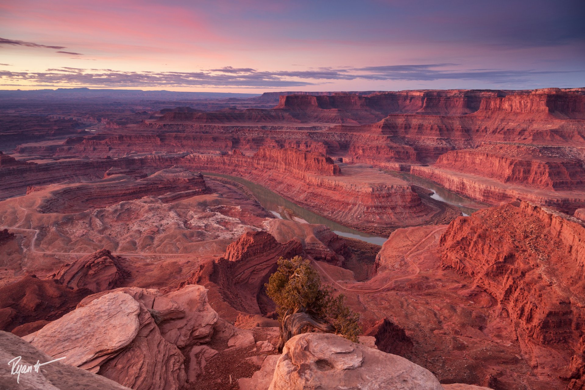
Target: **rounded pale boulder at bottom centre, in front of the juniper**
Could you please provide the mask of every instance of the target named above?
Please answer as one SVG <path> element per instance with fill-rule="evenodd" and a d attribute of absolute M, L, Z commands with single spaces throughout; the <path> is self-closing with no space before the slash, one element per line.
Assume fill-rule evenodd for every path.
<path fill-rule="evenodd" d="M 304 333 L 285 344 L 269 389 L 312 388 L 442 390 L 430 371 L 405 358 L 335 334 Z"/>

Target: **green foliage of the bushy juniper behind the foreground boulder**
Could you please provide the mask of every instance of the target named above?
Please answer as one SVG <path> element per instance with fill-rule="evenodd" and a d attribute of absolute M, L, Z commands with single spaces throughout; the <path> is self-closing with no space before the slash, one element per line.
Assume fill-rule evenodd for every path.
<path fill-rule="evenodd" d="M 281 323 L 286 315 L 307 313 L 330 323 L 335 333 L 349 340 L 357 341 L 362 332 L 360 315 L 345 305 L 343 294 L 332 297 L 331 290 L 321 285 L 311 261 L 300 256 L 278 260 L 278 270 L 270 276 L 266 294 L 276 303 Z"/>

